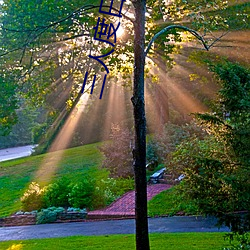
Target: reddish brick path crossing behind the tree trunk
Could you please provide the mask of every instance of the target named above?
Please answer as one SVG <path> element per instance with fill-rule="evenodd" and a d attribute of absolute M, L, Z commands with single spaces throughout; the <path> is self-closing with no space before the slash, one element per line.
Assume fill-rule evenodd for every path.
<path fill-rule="evenodd" d="M 169 189 L 171 185 L 155 184 L 147 188 L 148 201 L 160 192 Z M 134 218 L 135 217 L 135 191 L 124 194 L 105 209 L 91 211 L 88 213 L 89 219 L 107 218 Z"/>

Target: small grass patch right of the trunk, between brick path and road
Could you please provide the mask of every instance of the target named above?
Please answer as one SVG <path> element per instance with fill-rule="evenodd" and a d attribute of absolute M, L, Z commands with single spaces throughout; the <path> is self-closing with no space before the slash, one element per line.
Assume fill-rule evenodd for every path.
<path fill-rule="evenodd" d="M 148 203 L 148 214 L 151 217 L 161 215 L 174 215 L 178 212 L 185 214 L 198 214 L 198 209 L 192 203 L 188 203 L 176 193 L 175 187 L 153 197 Z"/>

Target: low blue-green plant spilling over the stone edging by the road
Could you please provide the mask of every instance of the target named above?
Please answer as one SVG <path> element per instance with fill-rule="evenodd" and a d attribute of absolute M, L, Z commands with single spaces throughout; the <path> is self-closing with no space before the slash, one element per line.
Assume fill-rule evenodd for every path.
<path fill-rule="evenodd" d="M 64 212 L 62 207 L 48 207 L 37 213 L 36 224 L 55 222 L 59 213 Z"/>

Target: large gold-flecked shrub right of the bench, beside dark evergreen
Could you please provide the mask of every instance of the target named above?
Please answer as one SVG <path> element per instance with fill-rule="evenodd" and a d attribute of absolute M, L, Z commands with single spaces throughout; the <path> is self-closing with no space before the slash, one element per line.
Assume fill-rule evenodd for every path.
<path fill-rule="evenodd" d="M 180 193 L 185 193 L 208 214 L 225 209 L 229 212 L 240 206 L 237 193 L 232 190 L 231 169 L 224 168 L 219 160 L 223 158 L 223 145 L 213 137 L 193 138 L 178 147 L 168 165 L 174 178 L 185 175 L 183 185 L 178 187 Z"/>

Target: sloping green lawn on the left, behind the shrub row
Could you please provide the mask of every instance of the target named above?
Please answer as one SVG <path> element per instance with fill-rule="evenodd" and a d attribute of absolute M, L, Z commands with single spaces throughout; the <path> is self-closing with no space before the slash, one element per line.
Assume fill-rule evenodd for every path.
<path fill-rule="evenodd" d="M 102 160 L 98 145 L 100 143 L 65 150 L 51 179 L 64 176 L 79 181 L 86 175 L 94 177 L 98 174 L 100 178 L 100 175 L 106 176 L 106 171 L 98 169 Z M 56 157 L 58 152 L 49 154 L 50 157 Z M 35 174 L 47 155 L 0 162 L 0 217 L 20 210 L 20 197 L 30 182 L 37 181 Z"/>

